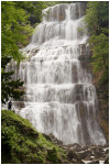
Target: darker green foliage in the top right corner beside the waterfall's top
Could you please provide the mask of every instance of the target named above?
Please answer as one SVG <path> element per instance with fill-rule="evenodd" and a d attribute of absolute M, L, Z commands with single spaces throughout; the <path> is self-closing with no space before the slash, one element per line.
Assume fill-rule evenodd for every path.
<path fill-rule="evenodd" d="M 91 34 L 98 33 L 100 29 L 109 26 L 109 2 L 89 1 L 86 22 Z"/>

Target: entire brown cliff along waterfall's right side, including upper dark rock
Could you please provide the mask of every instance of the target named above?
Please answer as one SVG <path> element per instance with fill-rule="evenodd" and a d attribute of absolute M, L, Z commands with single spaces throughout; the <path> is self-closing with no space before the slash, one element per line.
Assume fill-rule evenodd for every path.
<path fill-rule="evenodd" d="M 85 45 L 80 46 L 85 47 Z M 84 53 L 81 53 L 79 59 L 82 68 L 86 68 L 89 73 L 92 74 L 92 85 L 96 87 L 98 98 L 98 120 L 105 133 L 107 143 L 109 143 L 109 81 L 106 81 L 102 85 L 99 84 L 103 70 L 98 72 L 97 74 L 92 73 L 91 56 L 92 53 L 88 47 L 87 52 L 84 51 Z"/>

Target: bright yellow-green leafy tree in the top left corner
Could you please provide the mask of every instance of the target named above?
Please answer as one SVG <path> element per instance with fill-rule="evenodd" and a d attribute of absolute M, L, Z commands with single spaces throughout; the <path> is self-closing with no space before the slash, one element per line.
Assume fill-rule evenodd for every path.
<path fill-rule="evenodd" d="M 32 29 L 29 14 L 15 1 L 1 2 L 1 56 L 12 56 L 18 63 L 22 59 L 20 43 L 25 44 Z"/>

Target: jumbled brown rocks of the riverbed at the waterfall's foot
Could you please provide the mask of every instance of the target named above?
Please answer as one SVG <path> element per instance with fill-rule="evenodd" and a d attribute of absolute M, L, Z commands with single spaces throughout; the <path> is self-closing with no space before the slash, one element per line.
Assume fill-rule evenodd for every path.
<path fill-rule="evenodd" d="M 63 142 L 57 140 L 53 134 L 43 134 L 46 140 L 52 141 L 56 145 L 63 147 L 67 155 L 67 162 L 70 164 L 109 164 L 109 145 L 86 145 L 79 144 L 63 145 Z"/>

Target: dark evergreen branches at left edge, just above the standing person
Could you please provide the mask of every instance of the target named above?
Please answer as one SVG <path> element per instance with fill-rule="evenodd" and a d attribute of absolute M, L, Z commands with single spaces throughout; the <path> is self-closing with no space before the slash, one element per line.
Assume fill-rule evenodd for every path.
<path fill-rule="evenodd" d="M 4 72 L 6 66 L 10 63 L 12 57 L 2 57 L 1 58 L 1 101 L 6 103 L 9 98 L 20 99 L 24 95 L 24 91 L 20 89 L 23 86 L 23 81 L 20 79 L 13 80 L 12 75 L 14 72 Z"/>

